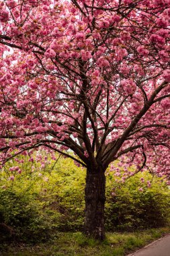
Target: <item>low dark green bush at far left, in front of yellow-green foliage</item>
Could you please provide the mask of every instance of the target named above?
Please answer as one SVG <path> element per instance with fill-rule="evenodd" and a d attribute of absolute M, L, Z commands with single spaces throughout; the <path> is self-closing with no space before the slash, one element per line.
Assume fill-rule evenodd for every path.
<path fill-rule="evenodd" d="M 0 241 L 15 239 L 34 243 L 50 236 L 52 225 L 35 199 L 11 190 L 0 190 L 0 198 Z"/>

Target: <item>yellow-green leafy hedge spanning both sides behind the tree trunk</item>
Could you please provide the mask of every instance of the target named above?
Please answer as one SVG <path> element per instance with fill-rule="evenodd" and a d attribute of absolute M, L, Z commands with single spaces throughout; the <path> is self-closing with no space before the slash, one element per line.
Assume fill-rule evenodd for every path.
<path fill-rule="evenodd" d="M 0 179 L 0 225 L 7 238 L 45 240 L 54 230 L 83 227 L 85 170 L 60 158 L 40 163 L 23 162 L 22 173 L 10 180 L 9 162 Z M 32 168 L 34 166 L 34 168 Z M 147 187 L 147 181 L 151 187 Z M 142 172 L 124 183 L 108 172 L 105 204 L 107 230 L 134 230 L 163 226 L 169 218 L 169 188 L 163 179 Z M 3 234 L 5 234 L 3 232 Z M 3 237 L 3 236 L 1 236 Z"/>

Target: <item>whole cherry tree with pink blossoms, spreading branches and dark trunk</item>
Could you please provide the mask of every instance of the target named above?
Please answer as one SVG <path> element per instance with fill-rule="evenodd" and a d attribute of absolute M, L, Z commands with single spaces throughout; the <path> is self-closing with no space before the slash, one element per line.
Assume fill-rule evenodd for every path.
<path fill-rule="evenodd" d="M 87 168 L 102 240 L 111 162 L 169 177 L 170 0 L 3 0 L 0 22 L 1 165 L 43 148 Z"/>

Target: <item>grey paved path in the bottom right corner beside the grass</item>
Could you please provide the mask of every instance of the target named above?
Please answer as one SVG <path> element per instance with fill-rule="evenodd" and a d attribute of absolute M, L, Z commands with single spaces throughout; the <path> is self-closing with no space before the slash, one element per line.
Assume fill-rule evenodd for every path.
<path fill-rule="evenodd" d="M 170 234 L 128 256 L 170 256 Z"/>

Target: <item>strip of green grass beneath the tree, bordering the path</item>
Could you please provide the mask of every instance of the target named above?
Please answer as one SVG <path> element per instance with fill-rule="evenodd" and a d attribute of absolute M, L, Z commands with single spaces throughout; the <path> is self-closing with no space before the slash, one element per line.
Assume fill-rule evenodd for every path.
<path fill-rule="evenodd" d="M 1 256 L 124 256 L 170 232 L 170 228 L 144 231 L 106 233 L 105 241 L 99 243 L 86 238 L 81 232 L 58 232 L 48 243 L 36 245 L 0 245 Z"/>

